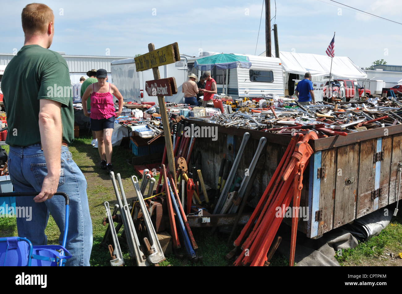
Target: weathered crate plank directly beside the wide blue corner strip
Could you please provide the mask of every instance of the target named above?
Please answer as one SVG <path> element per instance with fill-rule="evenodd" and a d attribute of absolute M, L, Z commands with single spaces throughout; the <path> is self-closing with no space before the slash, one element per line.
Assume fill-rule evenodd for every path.
<path fill-rule="evenodd" d="M 334 227 L 336 148 L 322 150 L 321 166 L 325 167 L 324 178 L 320 185 L 320 210 L 322 222 L 318 225 L 318 235 L 326 233 Z"/>

